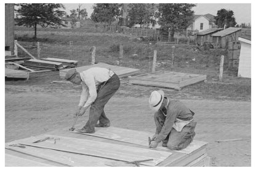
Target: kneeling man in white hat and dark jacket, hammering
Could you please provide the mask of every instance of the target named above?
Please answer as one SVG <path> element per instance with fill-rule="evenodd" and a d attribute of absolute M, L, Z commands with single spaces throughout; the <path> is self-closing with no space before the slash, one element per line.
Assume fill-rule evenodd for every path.
<path fill-rule="evenodd" d="M 156 123 L 156 133 L 151 139 L 150 148 L 156 148 L 162 141 L 162 146 L 171 150 L 185 149 L 196 134 L 194 112 L 182 102 L 164 97 L 162 90 L 153 91 L 149 102 Z"/>

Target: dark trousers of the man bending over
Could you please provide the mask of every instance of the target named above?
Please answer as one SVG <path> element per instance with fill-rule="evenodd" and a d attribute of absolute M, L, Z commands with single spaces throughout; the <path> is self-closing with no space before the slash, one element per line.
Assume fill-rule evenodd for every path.
<path fill-rule="evenodd" d="M 114 74 L 106 83 L 100 85 L 97 90 L 97 98 L 90 106 L 89 120 L 87 121 L 84 128 L 87 131 L 94 133 L 94 127 L 96 123 L 104 125 L 110 123 L 110 120 L 106 117 L 104 112 L 105 104 L 110 100 L 110 98 L 116 93 L 120 87 L 120 80 L 118 75 Z"/>

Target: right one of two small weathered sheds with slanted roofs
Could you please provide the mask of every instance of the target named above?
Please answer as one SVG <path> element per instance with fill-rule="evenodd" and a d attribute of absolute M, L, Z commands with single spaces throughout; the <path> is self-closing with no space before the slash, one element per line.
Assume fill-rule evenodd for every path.
<path fill-rule="evenodd" d="M 228 42 L 238 42 L 238 37 L 241 36 L 242 28 L 230 27 L 212 34 L 212 42 L 214 45 L 219 45 L 220 48 L 226 48 Z"/>

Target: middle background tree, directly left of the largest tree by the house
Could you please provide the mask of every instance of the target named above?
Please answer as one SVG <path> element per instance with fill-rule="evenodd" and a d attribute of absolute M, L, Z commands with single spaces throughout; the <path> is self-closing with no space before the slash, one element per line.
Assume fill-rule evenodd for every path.
<path fill-rule="evenodd" d="M 129 4 L 128 16 L 129 17 L 129 27 L 133 26 L 135 23 L 140 24 L 140 28 L 144 23 L 149 21 L 153 22 L 153 11 L 154 4 Z"/>

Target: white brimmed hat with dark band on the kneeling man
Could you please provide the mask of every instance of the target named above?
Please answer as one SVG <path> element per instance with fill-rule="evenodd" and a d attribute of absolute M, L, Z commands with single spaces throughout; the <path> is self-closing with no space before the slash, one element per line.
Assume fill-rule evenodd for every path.
<path fill-rule="evenodd" d="M 150 109 L 157 112 L 164 100 L 164 91 L 153 91 L 150 96 Z"/>

